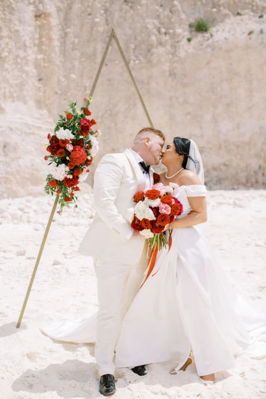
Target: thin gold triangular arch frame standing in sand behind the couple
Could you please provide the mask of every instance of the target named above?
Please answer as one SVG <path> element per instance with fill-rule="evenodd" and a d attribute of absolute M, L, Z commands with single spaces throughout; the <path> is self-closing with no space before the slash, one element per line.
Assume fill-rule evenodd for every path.
<path fill-rule="evenodd" d="M 121 55 L 121 58 L 122 58 L 125 66 L 126 66 L 126 69 L 127 69 L 128 73 L 129 73 L 129 76 L 130 76 L 130 78 L 132 80 L 132 83 L 133 83 L 133 85 L 135 87 L 135 90 L 136 90 L 136 92 L 138 94 L 139 100 L 140 100 L 141 105 L 142 105 L 142 107 L 144 109 L 144 112 L 145 112 L 145 114 L 147 116 L 147 119 L 149 121 L 150 127 L 153 128 L 154 126 L 153 126 L 153 123 L 151 121 L 150 115 L 149 115 L 148 110 L 147 110 L 147 108 L 146 108 L 146 106 L 144 104 L 143 98 L 142 98 L 142 96 L 140 94 L 139 88 L 138 88 L 137 83 L 136 83 L 136 81 L 134 79 L 134 76 L 133 76 L 133 74 L 131 72 L 131 69 L 130 69 L 129 64 L 128 64 L 127 60 L 126 60 L 125 54 L 124 54 L 124 52 L 122 50 L 122 47 L 121 47 L 121 45 L 119 43 L 119 40 L 118 40 L 118 38 L 116 36 L 116 33 L 115 33 L 114 29 L 112 29 L 111 34 L 110 34 L 109 39 L 108 39 L 108 42 L 106 44 L 106 47 L 105 47 L 105 50 L 104 50 L 104 53 L 103 53 L 103 56 L 102 56 L 98 71 L 96 73 L 96 76 L 95 76 L 95 79 L 94 79 L 94 82 L 93 82 L 93 85 L 92 85 L 92 88 L 91 88 L 89 96 L 90 97 L 93 96 L 93 93 L 95 91 L 99 76 L 100 76 L 101 71 L 102 71 L 102 67 L 104 65 L 105 58 L 107 56 L 109 47 L 110 47 L 111 42 L 112 42 L 113 39 L 114 39 L 114 41 L 115 41 L 115 43 L 117 45 L 117 48 L 118 48 L 119 53 Z M 58 200 L 59 200 L 59 195 L 57 194 L 56 198 L 54 200 L 54 203 L 53 203 L 53 207 L 52 207 L 52 210 L 51 210 L 51 214 L 50 214 L 50 217 L 49 217 L 45 232 L 44 232 L 44 236 L 43 236 L 43 239 L 42 239 L 42 242 L 41 242 L 41 246 L 40 246 L 40 249 L 39 249 L 37 260 L 36 260 L 32 275 L 31 275 L 31 279 L 30 279 L 30 282 L 29 282 L 29 285 L 28 285 L 28 289 L 27 289 L 26 296 L 25 296 L 25 299 L 24 299 L 24 302 L 23 302 L 23 305 L 22 305 L 22 309 L 21 309 L 21 312 L 20 312 L 20 315 L 19 315 L 19 319 L 18 319 L 16 328 L 20 327 L 20 324 L 21 324 L 21 321 L 22 321 L 22 318 L 23 318 L 23 314 L 24 314 L 24 311 L 25 311 L 25 308 L 26 308 L 26 305 L 27 305 L 28 297 L 29 297 L 29 294 L 30 294 L 30 291 L 31 291 L 31 287 L 32 287 L 34 278 L 35 278 L 35 274 L 37 272 L 39 261 L 40 261 L 40 258 L 41 258 L 41 255 L 42 255 L 42 251 L 43 251 L 43 248 L 44 248 L 44 245 L 45 245 L 45 242 L 46 242 L 46 238 L 48 236 L 48 232 L 49 232 L 49 229 L 50 229 L 50 226 L 51 226 L 51 222 L 52 222 L 52 219 L 53 219 L 53 215 L 54 215 Z"/>

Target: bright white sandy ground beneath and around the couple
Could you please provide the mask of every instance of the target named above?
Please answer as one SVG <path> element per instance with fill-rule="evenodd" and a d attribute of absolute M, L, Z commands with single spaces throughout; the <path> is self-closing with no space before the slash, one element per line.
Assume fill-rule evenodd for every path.
<path fill-rule="evenodd" d="M 97 302 L 92 259 L 75 253 L 90 224 L 91 193 L 78 209 L 55 215 L 20 329 L 22 306 L 53 198 L 0 200 L 0 399 L 92 399 L 98 393 L 93 345 L 52 341 L 39 331 L 51 319 L 76 317 Z M 233 286 L 266 311 L 266 191 L 208 192 L 206 235 Z M 238 359 L 205 387 L 195 364 L 170 376 L 170 362 L 138 377 L 116 372 L 119 399 L 266 398 L 266 359 Z"/>

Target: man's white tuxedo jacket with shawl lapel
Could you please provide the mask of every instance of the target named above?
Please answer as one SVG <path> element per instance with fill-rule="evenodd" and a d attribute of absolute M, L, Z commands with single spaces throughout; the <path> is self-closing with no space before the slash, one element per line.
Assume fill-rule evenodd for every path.
<path fill-rule="evenodd" d="M 150 182 L 153 185 L 153 169 Z M 94 220 L 86 232 L 78 253 L 118 263 L 136 263 L 144 248 L 144 239 L 126 239 L 132 231 L 126 218 L 128 208 L 136 205 L 134 194 L 145 189 L 146 180 L 129 150 L 105 155 L 94 175 Z"/>

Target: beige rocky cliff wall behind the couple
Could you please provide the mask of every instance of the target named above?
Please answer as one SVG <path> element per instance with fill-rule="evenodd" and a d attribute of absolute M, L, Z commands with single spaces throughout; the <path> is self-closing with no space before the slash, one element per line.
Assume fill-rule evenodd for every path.
<path fill-rule="evenodd" d="M 199 17 L 210 32 L 189 27 Z M 65 109 L 63 93 L 80 104 L 88 95 L 112 27 L 154 126 L 198 143 L 208 188 L 265 188 L 265 1 L 1 0 L 3 196 L 42 191 L 41 137 Z M 115 43 L 91 111 L 103 134 L 89 179 L 102 155 L 148 125 Z"/>

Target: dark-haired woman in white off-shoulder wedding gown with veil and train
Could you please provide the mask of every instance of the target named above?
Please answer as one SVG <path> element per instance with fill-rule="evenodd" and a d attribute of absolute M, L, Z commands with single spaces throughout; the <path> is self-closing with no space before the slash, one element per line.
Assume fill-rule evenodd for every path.
<path fill-rule="evenodd" d="M 161 183 L 175 183 L 173 196 L 183 213 L 168 225 L 172 247 L 158 252 L 153 273 L 138 291 L 123 319 L 116 367 L 178 362 L 171 374 L 192 363 L 206 384 L 215 373 L 236 367 L 235 357 L 266 356 L 266 315 L 257 312 L 227 280 L 200 224 L 207 220 L 204 169 L 196 143 L 175 137 L 164 150 L 167 173 Z M 168 231 L 166 232 L 168 234 Z M 96 315 L 63 320 L 42 328 L 66 342 L 95 342 Z"/>

